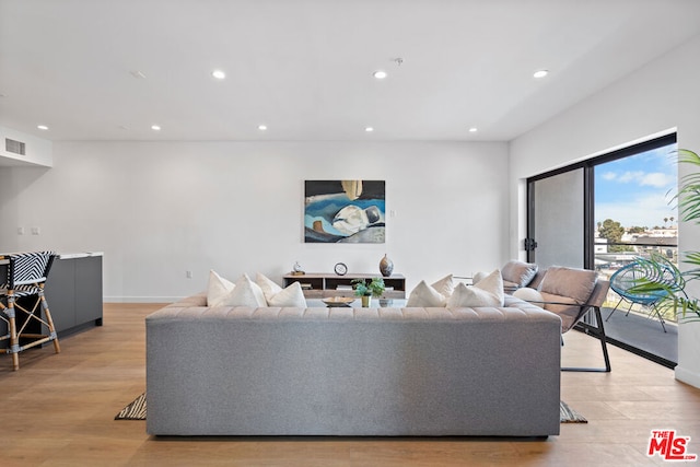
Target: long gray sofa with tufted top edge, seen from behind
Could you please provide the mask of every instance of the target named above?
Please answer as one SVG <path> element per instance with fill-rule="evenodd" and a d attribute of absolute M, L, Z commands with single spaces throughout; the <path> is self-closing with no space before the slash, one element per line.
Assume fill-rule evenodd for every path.
<path fill-rule="evenodd" d="M 207 307 L 147 317 L 154 435 L 559 434 L 560 318 L 503 307 Z"/>

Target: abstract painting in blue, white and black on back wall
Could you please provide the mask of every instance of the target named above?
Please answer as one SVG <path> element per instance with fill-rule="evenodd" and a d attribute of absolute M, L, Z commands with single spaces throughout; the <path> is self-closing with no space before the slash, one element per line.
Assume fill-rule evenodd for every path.
<path fill-rule="evenodd" d="M 306 180 L 305 243 L 384 243 L 384 180 Z"/>

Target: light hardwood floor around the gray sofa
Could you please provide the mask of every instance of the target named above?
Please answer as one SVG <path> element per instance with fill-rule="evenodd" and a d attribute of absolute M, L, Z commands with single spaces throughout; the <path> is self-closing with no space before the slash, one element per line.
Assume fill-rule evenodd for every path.
<path fill-rule="evenodd" d="M 106 304 L 104 326 L 20 357 L 0 357 L 1 466 L 642 466 L 651 430 L 691 436 L 700 454 L 700 389 L 672 370 L 610 348 L 612 373 L 562 373 L 561 397 L 588 419 L 559 436 L 517 439 L 155 439 L 114 416 L 145 387 L 143 318 L 154 304 Z M 572 331 L 565 365 L 600 364 L 599 345 Z M 202 342 L 206 346 L 207 342 Z M 192 349 L 197 351 L 197 349 Z M 514 352 L 517 349 L 513 349 Z M 469 358 L 469 355 L 465 355 Z M 700 462 L 696 465 L 700 465 Z"/>

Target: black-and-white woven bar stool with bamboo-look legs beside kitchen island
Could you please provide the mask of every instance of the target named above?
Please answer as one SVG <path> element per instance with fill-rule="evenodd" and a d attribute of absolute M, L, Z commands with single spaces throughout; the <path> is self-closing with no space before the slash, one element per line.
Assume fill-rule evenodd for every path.
<path fill-rule="evenodd" d="M 56 353 L 61 351 L 44 296 L 44 285 L 48 271 L 54 262 L 54 252 L 20 253 L 0 256 L 0 260 L 8 261 L 8 276 L 0 278 L 0 319 L 8 324 L 8 334 L 0 336 L 0 340 L 10 339 L 7 353 L 12 354 L 12 369 L 20 369 L 19 353 L 32 347 L 54 341 Z M 22 304 L 19 303 L 22 299 Z M 35 299 L 35 301 L 32 301 Z M 18 329 L 15 311 L 22 312 L 26 319 Z M 44 312 L 44 318 L 42 318 Z M 22 315 L 21 315 L 22 316 Z M 39 323 L 46 326 L 48 334 L 25 332 L 30 323 Z M 20 339 L 28 342 L 20 346 Z"/>

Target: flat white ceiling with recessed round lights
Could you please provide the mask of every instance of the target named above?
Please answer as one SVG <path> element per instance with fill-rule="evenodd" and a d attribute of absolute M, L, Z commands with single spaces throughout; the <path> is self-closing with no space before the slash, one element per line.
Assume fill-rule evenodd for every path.
<path fill-rule="evenodd" d="M 508 141 L 697 34 L 700 0 L 0 0 L 0 126 Z"/>

